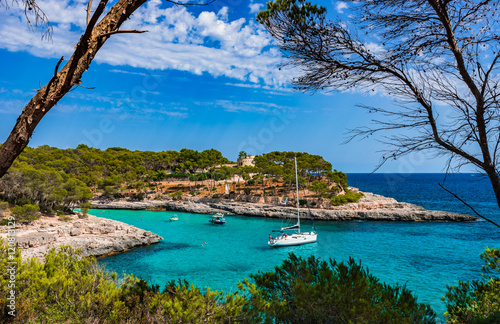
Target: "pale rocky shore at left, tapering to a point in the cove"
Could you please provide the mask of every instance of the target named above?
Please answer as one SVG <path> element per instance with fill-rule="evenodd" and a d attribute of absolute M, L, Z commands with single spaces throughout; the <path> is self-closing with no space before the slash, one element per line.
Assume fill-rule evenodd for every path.
<path fill-rule="evenodd" d="M 0 233 L 0 238 L 6 239 L 7 233 Z M 43 217 L 33 224 L 16 227 L 16 245 L 23 260 L 36 257 L 43 261 L 50 249 L 61 245 L 80 249 L 86 256 L 104 257 L 160 240 L 161 236 L 150 231 L 92 215 L 69 221 Z"/>

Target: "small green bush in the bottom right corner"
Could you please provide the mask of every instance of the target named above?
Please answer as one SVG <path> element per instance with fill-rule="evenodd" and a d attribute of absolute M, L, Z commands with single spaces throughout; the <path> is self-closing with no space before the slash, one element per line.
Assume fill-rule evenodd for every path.
<path fill-rule="evenodd" d="M 481 280 L 448 287 L 443 297 L 448 323 L 500 323 L 500 250 L 486 248 L 481 259 L 485 263 Z"/>

